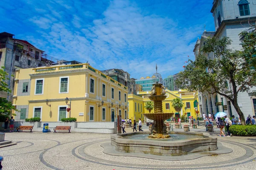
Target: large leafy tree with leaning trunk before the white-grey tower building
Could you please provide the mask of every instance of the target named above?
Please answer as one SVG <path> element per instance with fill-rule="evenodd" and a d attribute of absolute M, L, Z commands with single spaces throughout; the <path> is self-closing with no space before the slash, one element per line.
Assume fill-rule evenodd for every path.
<path fill-rule="evenodd" d="M 189 60 L 184 71 L 179 73 L 175 82 L 180 88 L 189 91 L 207 91 L 209 94 L 225 96 L 239 114 L 241 124 L 245 125 L 244 114 L 238 105 L 239 92 L 250 92 L 256 85 L 255 66 L 256 41 L 251 40 L 250 32 L 243 37 L 241 51 L 229 48 L 231 40 L 228 37 L 217 39 L 208 38 L 200 49 L 201 54 L 195 61 Z M 209 59 L 207 54 L 214 52 L 214 59 Z M 190 82 L 190 83 L 188 83 Z"/>

